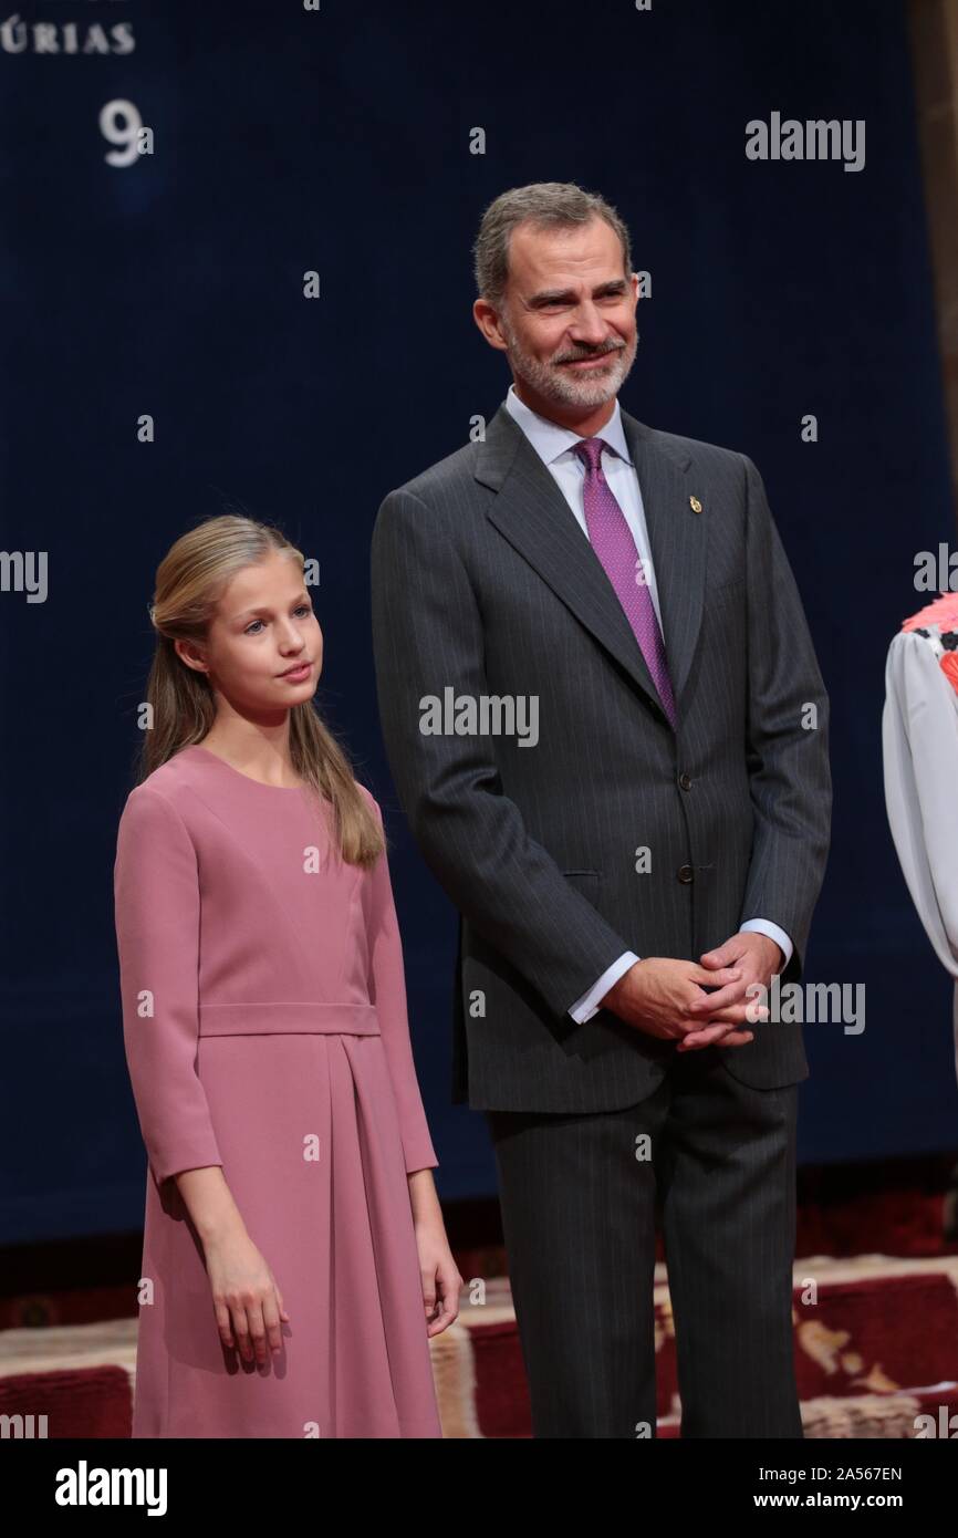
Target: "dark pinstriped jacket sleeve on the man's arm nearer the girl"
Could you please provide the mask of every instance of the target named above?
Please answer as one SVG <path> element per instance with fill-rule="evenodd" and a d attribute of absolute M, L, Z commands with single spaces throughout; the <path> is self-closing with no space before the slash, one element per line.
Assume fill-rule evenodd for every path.
<path fill-rule="evenodd" d="M 629 946 L 526 831 L 489 740 L 420 731 L 424 695 L 487 684 L 469 575 L 412 492 L 380 506 L 371 578 L 380 720 L 412 835 L 460 914 L 563 1017 Z"/>

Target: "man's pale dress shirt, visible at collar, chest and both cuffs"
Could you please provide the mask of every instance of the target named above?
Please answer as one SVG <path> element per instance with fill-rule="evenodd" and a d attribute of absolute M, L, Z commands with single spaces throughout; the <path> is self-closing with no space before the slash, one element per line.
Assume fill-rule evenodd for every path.
<path fill-rule="evenodd" d="M 532 411 L 518 398 L 515 394 L 515 384 L 509 386 L 509 394 L 506 395 L 506 411 L 515 418 L 529 438 L 529 443 L 575 514 L 575 521 L 586 538 L 589 538 L 586 509 L 583 506 L 583 480 L 586 475 L 586 466 L 580 460 L 578 454 L 574 454 L 574 446 L 584 441 L 581 434 L 574 432 L 570 428 L 563 428 L 557 421 L 549 421 L 547 417 L 540 417 L 538 412 Z M 638 475 L 635 474 L 635 464 L 632 463 L 632 457 L 629 454 L 618 400 L 615 401 L 609 421 L 604 428 L 600 428 L 597 437 L 603 438 L 604 443 L 607 443 L 614 451 L 609 454 L 603 449 L 603 474 L 612 489 L 612 495 L 624 514 L 632 538 L 635 540 L 635 549 L 646 574 L 652 604 L 655 608 L 655 614 L 658 615 L 658 624 L 660 629 L 664 629 L 661 623 L 661 611 L 658 608 L 658 588 L 655 584 L 655 569 L 652 566 L 652 549 L 649 546 L 649 531 L 646 528 L 641 489 L 638 484 Z M 769 935 L 769 938 L 773 940 L 784 954 L 783 969 L 789 964 L 793 946 L 784 929 L 780 929 L 778 924 L 773 924 L 767 918 L 749 918 L 747 923 L 741 926 L 741 930 L 747 929 Z M 592 1015 L 598 1012 L 600 1001 L 609 992 L 612 984 L 618 983 L 620 977 L 623 977 L 623 974 L 627 972 L 629 967 L 638 960 L 640 957 L 637 957 L 634 950 L 623 950 L 612 966 L 606 967 L 603 975 L 597 978 L 592 987 L 570 1006 L 569 1014 L 572 1018 L 580 1024 L 590 1020 Z"/>

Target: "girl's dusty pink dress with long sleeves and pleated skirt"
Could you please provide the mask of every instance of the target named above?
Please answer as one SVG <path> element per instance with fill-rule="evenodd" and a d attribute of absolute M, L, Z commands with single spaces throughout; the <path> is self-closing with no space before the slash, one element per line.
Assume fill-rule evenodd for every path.
<path fill-rule="evenodd" d="M 378 804 L 363 787 L 381 821 Z M 386 855 L 185 747 L 123 809 L 123 1035 L 146 1144 L 134 1436 L 441 1436 L 406 1173 L 435 1167 Z M 291 1317 L 220 1343 L 177 1170 L 221 1164 Z"/>

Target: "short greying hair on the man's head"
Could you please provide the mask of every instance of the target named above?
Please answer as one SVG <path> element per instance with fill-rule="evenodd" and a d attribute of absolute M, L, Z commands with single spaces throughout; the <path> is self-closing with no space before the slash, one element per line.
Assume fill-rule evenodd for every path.
<path fill-rule="evenodd" d="M 501 309 L 509 281 L 509 238 L 517 225 L 529 220 L 537 229 L 586 225 L 604 218 L 623 246 L 626 277 L 632 271 L 629 231 L 610 203 L 598 192 L 586 192 L 575 181 L 531 181 L 524 188 L 509 188 L 489 205 L 472 248 L 475 286 L 494 309 Z"/>

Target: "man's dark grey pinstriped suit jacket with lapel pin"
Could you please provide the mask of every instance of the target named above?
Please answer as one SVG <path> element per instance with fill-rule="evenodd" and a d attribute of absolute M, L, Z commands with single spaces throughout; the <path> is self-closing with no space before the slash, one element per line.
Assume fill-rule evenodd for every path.
<path fill-rule="evenodd" d="M 372 629 L 389 764 L 460 910 L 454 1101 L 614 1110 L 675 1043 L 569 1006 L 623 950 L 697 961 L 769 918 L 801 977 L 829 846 L 829 701 L 761 477 L 741 454 L 623 412 L 677 700 L 672 732 L 629 620 L 504 404 L 389 492 Z M 692 498 L 701 504 L 695 512 Z M 426 697 L 538 697 L 538 744 L 431 735 Z M 803 711 L 813 704 L 817 727 Z M 650 852 L 643 871 L 641 849 Z M 798 1023 L 726 1047 L 758 1087 L 807 1077 Z"/>

